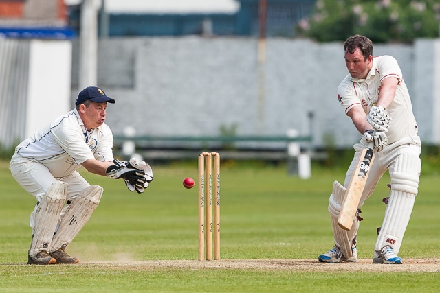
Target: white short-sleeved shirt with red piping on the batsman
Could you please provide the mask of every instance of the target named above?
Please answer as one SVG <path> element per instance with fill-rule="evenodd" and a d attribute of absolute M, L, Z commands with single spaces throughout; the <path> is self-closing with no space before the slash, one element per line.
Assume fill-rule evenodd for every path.
<path fill-rule="evenodd" d="M 349 74 L 338 86 L 338 101 L 346 114 L 355 106 L 362 106 L 368 114 L 371 107 L 377 104 L 382 80 L 391 77 L 397 78 L 399 84 L 393 102 L 386 108 L 393 119 L 386 133 L 388 144 L 417 135 L 417 122 L 412 113 L 410 95 L 397 60 L 388 55 L 375 57 L 373 67 L 365 79 L 352 78 Z"/>

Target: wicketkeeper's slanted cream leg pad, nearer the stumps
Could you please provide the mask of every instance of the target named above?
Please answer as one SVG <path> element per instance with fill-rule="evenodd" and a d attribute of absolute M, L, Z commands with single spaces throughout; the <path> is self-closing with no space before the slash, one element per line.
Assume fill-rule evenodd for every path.
<path fill-rule="evenodd" d="M 81 191 L 78 196 L 72 200 L 61 220 L 58 232 L 56 232 L 50 246 L 50 252 L 59 248 L 66 248 L 70 242 L 78 235 L 84 225 L 87 223 L 91 214 L 101 200 L 104 189 L 98 185 L 92 185 Z"/>

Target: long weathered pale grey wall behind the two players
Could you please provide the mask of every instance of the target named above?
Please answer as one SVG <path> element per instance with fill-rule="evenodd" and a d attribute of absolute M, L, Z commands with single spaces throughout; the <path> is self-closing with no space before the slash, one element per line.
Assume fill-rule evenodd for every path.
<path fill-rule="evenodd" d="M 338 148 L 360 140 L 336 97 L 347 75 L 343 42 L 267 38 L 262 76 L 257 43 L 198 36 L 101 39 L 98 86 L 117 103 L 107 109 L 106 123 L 116 135 L 125 126 L 138 135 L 164 136 L 219 135 L 236 126 L 237 135 L 311 130 L 316 147 L 330 145 L 329 138 Z M 77 48 L 74 41 L 72 102 L 81 90 Z M 373 54 L 397 59 L 423 143 L 440 143 L 440 40 L 376 44 Z"/>

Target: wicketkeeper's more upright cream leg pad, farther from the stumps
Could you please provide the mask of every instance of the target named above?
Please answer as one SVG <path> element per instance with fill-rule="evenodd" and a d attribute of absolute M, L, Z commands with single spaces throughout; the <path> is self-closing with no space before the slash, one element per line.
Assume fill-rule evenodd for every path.
<path fill-rule="evenodd" d="M 35 212 L 34 236 L 29 250 L 30 256 L 36 255 L 41 250 L 47 250 L 49 253 L 56 224 L 67 198 L 67 185 L 62 181 L 52 183 L 41 198 Z"/>

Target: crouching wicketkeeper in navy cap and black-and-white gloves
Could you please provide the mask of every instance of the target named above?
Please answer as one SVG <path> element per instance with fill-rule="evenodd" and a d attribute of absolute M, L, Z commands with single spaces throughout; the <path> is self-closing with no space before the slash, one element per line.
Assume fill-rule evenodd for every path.
<path fill-rule="evenodd" d="M 113 158 L 113 134 L 104 123 L 107 103 L 115 100 L 89 86 L 79 93 L 73 110 L 15 148 L 12 176 L 36 198 L 30 215 L 28 264 L 79 262 L 65 250 L 98 207 L 103 191 L 87 183 L 77 171 L 81 166 L 94 174 L 122 179 L 137 193 L 153 180 L 153 171 L 144 161 Z"/>

